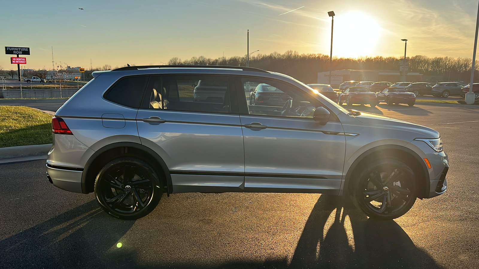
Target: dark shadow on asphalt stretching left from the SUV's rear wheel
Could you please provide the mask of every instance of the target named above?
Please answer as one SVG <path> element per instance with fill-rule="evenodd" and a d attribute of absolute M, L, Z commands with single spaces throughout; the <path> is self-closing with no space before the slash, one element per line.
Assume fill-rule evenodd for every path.
<path fill-rule="evenodd" d="M 112 257 L 108 250 L 134 223 L 112 218 L 93 200 L 1 240 L 0 267 L 117 268 L 116 262 L 133 258 L 125 252 Z"/>

